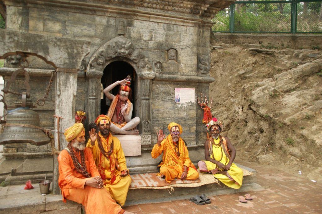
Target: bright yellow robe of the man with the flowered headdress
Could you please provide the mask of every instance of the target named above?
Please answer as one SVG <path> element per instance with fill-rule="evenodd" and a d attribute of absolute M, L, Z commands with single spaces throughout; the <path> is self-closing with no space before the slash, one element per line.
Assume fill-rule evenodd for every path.
<path fill-rule="evenodd" d="M 218 139 L 214 139 L 214 142 L 216 144 L 219 143 L 219 137 Z M 224 165 L 227 165 L 229 163 L 229 157 L 226 156 L 225 152 L 222 152 L 221 146 L 216 148 L 213 144 L 213 155 L 215 160 L 219 161 L 222 154 L 223 154 L 223 158 L 221 159 L 220 163 L 223 163 Z M 210 157 L 213 158 L 212 154 L 210 154 Z M 210 162 L 210 161 L 204 161 L 206 166 L 207 166 L 207 170 L 214 170 L 216 168 L 216 164 Z M 243 178 L 243 172 L 242 169 L 239 168 L 236 164 L 232 163 L 232 166 L 230 167 L 230 170 L 228 170 L 229 175 L 232 177 L 232 179 L 234 181 L 231 181 L 229 179 L 229 177 L 227 175 L 223 175 L 220 173 L 216 173 L 213 176 L 215 178 L 217 178 L 219 181 L 223 182 L 223 184 L 225 184 L 228 187 L 234 188 L 234 189 L 239 189 L 242 186 L 242 178 Z M 236 184 L 235 181 L 238 183 Z"/>

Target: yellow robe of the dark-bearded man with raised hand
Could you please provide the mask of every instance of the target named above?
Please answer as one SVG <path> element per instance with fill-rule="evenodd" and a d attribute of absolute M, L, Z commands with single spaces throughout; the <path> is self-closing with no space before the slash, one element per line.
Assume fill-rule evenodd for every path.
<path fill-rule="evenodd" d="M 121 206 L 123 206 L 125 204 L 126 196 L 128 195 L 128 188 L 132 180 L 129 175 L 125 177 L 120 176 L 123 170 L 128 171 L 121 143 L 118 138 L 113 137 L 111 134 L 109 134 L 108 139 L 105 139 L 99 132 L 97 137 L 101 138 L 103 148 L 106 152 L 109 151 L 110 144 L 112 143 L 113 139 L 114 149 L 111 155 L 114 155 L 115 160 L 117 160 L 117 165 L 115 166 L 115 181 L 113 181 L 113 183 L 111 183 L 111 161 L 101 154 L 97 140 L 95 141 L 95 145 L 92 146 L 89 139 L 87 142 L 87 147 L 92 150 L 96 166 L 98 168 L 99 166 L 102 166 L 104 169 L 104 174 L 106 177 L 106 179 L 104 180 L 104 187 L 109 191 L 112 198 L 116 200 Z"/>

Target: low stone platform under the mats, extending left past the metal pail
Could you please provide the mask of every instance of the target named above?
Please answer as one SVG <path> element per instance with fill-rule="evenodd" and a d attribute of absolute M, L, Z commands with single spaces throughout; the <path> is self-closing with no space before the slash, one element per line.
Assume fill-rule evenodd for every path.
<path fill-rule="evenodd" d="M 241 166 L 241 165 L 240 165 Z M 242 191 L 251 191 L 260 188 L 256 183 L 256 171 L 242 166 L 251 175 L 244 176 L 243 185 L 239 190 L 226 187 L 223 183 L 208 184 L 200 187 L 175 187 L 174 191 L 167 189 L 133 189 L 128 191 L 127 202 L 125 206 L 155 203 L 171 200 L 189 199 L 196 194 L 205 193 L 206 195 L 221 195 Z M 24 185 L 11 185 L 0 187 L 0 214 L 5 213 L 64 213 L 64 214 L 81 214 L 81 206 L 68 201 L 62 202 L 61 195 L 40 194 L 38 183 L 32 183 L 34 189 L 24 190 Z"/>

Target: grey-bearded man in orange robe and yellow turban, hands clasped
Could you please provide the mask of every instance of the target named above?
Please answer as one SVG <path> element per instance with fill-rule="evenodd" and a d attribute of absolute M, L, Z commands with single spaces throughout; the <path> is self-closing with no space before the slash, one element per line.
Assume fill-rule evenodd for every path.
<path fill-rule="evenodd" d="M 67 147 L 58 156 L 59 187 L 63 201 L 75 201 L 84 206 L 87 214 L 121 214 L 123 210 L 103 188 L 92 152 L 85 146 L 85 129 L 75 123 L 65 130 Z"/>

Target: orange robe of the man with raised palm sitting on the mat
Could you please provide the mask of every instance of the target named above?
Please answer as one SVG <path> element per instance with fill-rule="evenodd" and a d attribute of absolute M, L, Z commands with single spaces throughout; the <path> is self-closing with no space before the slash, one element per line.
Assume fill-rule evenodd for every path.
<path fill-rule="evenodd" d="M 155 144 L 151 152 L 153 158 L 157 158 L 163 152 L 162 163 L 159 165 L 161 166 L 160 174 L 166 176 L 168 183 L 175 178 L 181 178 L 184 166 L 188 167 L 186 180 L 195 180 L 199 177 L 199 173 L 189 158 L 188 148 L 181 137 L 179 137 L 178 148 L 180 156 L 176 153 L 172 136 L 168 135 L 160 146 Z"/>

